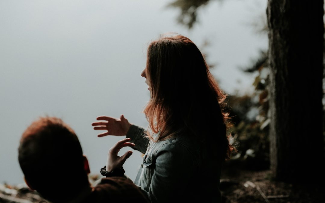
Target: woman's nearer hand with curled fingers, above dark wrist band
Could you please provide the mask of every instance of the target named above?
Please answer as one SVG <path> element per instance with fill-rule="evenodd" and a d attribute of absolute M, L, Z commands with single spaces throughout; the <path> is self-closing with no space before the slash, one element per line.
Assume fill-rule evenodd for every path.
<path fill-rule="evenodd" d="M 125 146 L 133 147 L 135 144 L 130 143 L 131 138 L 125 138 L 123 140 L 118 141 L 112 148 L 110 148 L 107 157 L 106 163 L 106 171 L 113 171 L 115 169 L 122 168 L 125 160 L 132 155 L 132 151 L 127 151 L 122 157 L 119 157 L 117 154 Z"/>

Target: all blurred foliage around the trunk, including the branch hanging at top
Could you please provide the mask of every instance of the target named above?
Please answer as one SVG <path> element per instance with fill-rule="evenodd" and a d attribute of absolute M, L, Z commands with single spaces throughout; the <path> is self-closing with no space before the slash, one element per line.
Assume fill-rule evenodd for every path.
<path fill-rule="evenodd" d="M 180 13 L 177 22 L 185 25 L 188 29 L 193 28 L 195 23 L 199 23 L 198 15 L 200 8 L 204 8 L 213 0 L 175 0 L 168 7 L 178 8 Z M 223 2 L 223 0 L 215 0 Z M 254 19 L 251 23 L 256 33 L 267 34 L 266 14 L 259 19 Z M 325 35 L 324 35 L 325 38 Z M 204 46 L 209 44 L 205 40 Z M 204 48 L 203 46 L 203 48 Z M 325 46 L 325 45 L 324 45 Z M 325 47 L 324 47 L 325 50 Z M 203 49 L 204 52 L 204 49 Z M 205 57 L 207 53 L 203 53 Z M 209 64 L 210 65 L 210 64 Z M 211 64 L 210 68 L 214 68 Z M 325 52 L 324 52 L 325 69 Z M 268 51 L 261 50 L 260 55 L 252 60 L 246 68 L 242 68 L 243 73 L 257 74 L 252 81 L 254 92 L 252 94 L 228 95 L 227 111 L 231 120 L 227 124 L 228 134 L 231 134 L 230 143 L 235 146 L 237 152 L 232 154 L 227 164 L 236 164 L 248 170 L 267 170 L 270 167 L 270 141 L 269 141 L 269 67 Z M 323 75 L 323 92 L 325 86 L 325 71 Z M 323 94 L 323 112 L 325 104 L 325 94 Z M 325 115 L 323 113 L 323 115 Z M 325 119 L 325 116 L 323 116 Z M 325 141 L 325 124 L 323 124 L 323 135 Z M 325 152 L 325 149 L 324 149 Z"/>

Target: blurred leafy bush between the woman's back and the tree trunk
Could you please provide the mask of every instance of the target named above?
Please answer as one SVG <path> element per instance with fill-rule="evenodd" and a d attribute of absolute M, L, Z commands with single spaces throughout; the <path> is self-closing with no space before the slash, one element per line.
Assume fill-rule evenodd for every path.
<path fill-rule="evenodd" d="M 232 134 L 231 143 L 237 149 L 232 160 L 242 162 L 241 166 L 250 170 L 265 170 L 270 164 L 267 52 L 261 51 L 251 67 L 243 71 L 258 74 L 253 81 L 253 94 L 228 97 L 227 111 L 231 117 L 228 133 Z"/>

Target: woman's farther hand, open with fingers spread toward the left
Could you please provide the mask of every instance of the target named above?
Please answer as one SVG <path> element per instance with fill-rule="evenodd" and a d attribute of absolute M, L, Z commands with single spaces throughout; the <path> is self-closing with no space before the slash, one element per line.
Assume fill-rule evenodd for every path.
<path fill-rule="evenodd" d="M 132 125 L 127 121 L 123 115 L 120 119 L 109 117 L 109 116 L 99 116 L 97 117 L 98 122 L 93 122 L 91 125 L 95 126 L 94 130 L 107 130 L 107 132 L 99 133 L 98 137 L 103 137 L 106 135 L 116 135 L 123 136 L 126 135 L 130 126 Z"/>

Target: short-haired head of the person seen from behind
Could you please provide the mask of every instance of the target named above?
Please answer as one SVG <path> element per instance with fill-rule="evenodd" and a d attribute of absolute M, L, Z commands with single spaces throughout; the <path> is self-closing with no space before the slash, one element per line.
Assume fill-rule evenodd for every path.
<path fill-rule="evenodd" d="M 89 185 L 78 137 L 59 118 L 34 121 L 22 134 L 18 152 L 26 181 L 50 201 L 73 198 Z"/>

